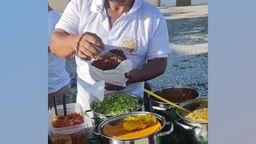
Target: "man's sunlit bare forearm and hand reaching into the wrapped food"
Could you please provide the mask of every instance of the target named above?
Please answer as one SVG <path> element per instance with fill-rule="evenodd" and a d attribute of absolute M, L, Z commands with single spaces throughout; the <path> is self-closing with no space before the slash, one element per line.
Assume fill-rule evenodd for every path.
<path fill-rule="evenodd" d="M 102 39 L 92 33 L 72 35 L 57 29 L 50 41 L 50 51 L 60 58 L 70 58 L 77 54 L 85 60 L 97 59 L 101 49 L 104 49 Z"/>

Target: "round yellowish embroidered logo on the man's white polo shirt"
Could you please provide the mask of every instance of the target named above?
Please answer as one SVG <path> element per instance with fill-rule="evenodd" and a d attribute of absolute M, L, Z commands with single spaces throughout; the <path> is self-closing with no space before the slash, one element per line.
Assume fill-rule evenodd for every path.
<path fill-rule="evenodd" d="M 133 38 L 125 38 L 122 42 L 122 49 L 127 53 L 132 54 L 137 50 L 137 42 Z"/>

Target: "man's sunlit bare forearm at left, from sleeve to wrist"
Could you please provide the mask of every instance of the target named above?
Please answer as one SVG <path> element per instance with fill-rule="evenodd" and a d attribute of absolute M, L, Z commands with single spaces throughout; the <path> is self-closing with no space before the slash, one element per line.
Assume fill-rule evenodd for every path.
<path fill-rule="evenodd" d="M 75 53 L 79 37 L 66 34 L 64 31 L 55 31 L 50 41 L 50 51 L 60 58 L 70 58 Z"/>

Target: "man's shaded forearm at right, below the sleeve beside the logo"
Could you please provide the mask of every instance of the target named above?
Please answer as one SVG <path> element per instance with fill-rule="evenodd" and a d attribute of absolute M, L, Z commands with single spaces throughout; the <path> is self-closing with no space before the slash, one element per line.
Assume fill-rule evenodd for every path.
<path fill-rule="evenodd" d="M 167 58 L 154 58 L 138 70 L 132 70 L 126 74 L 129 78 L 127 84 L 134 82 L 146 82 L 162 75 L 166 70 Z"/>

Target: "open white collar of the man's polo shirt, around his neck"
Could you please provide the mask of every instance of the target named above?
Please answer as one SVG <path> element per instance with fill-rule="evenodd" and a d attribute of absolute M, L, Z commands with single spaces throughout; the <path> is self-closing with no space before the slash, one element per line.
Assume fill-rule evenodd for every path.
<path fill-rule="evenodd" d="M 90 10 L 95 13 L 101 13 L 104 7 L 105 0 L 93 0 Z M 142 0 L 134 0 L 134 6 L 131 7 L 128 14 L 134 13 L 142 6 Z"/>

